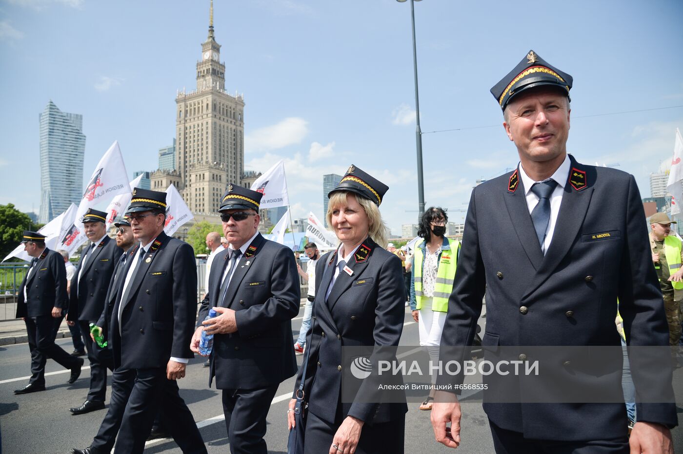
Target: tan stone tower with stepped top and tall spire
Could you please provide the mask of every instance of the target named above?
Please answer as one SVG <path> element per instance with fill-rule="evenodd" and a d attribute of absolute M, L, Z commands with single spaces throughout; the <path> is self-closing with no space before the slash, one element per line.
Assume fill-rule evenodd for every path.
<path fill-rule="evenodd" d="M 225 91 L 225 63 L 214 38 L 213 2 L 209 31 L 197 62 L 197 89 L 176 97 L 176 170 L 180 194 L 193 213 L 215 215 L 230 181 L 245 170 L 244 95 Z"/>

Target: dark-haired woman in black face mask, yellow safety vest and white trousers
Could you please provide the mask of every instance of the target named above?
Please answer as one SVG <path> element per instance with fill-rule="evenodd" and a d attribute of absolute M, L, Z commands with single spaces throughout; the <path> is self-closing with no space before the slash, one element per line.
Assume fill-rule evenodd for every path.
<path fill-rule="evenodd" d="M 460 241 L 445 237 L 447 222 L 446 211 L 440 207 L 430 207 L 422 215 L 417 235 L 423 241 L 415 245 L 410 284 L 410 309 L 419 326 L 420 345 L 427 347 L 433 364 L 438 361 L 441 331 L 460 253 Z M 432 376 L 432 384 L 435 378 Z M 432 410 L 433 401 L 434 389 L 420 404 L 420 410 Z"/>

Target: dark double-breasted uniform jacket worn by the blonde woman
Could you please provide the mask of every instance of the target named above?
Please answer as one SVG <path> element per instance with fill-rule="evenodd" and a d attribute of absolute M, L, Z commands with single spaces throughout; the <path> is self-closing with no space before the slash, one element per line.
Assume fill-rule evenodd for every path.
<path fill-rule="evenodd" d="M 352 274 L 339 273 L 325 299 L 337 267 L 336 254 L 328 252 L 316 264 L 315 320 L 306 337 L 311 348 L 304 388 L 308 410 L 332 424 L 339 412 L 342 418 L 352 416 L 370 425 L 398 419 L 408 411 L 405 403 L 342 403 L 341 393 L 342 373 L 350 366 L 343 362 L 342 347 L 398 346 L 406 301 L 401 260 L 367 237 L 346 264 Z M 303 368 L 295 390 L 302 374 Z M 370 383 L 366 379 L 363 385 L 365 381 Z"/>

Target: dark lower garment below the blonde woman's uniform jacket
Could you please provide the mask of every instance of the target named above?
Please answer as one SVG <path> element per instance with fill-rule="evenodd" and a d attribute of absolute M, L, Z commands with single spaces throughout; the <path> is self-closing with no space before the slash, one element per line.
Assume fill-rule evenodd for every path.
<path fill-rule="evenodd" d="M 309 412 L 306 417 L 306 432 L 304 435 L 304 453 L 327 453 L 332 446 L 337 429 L 344 422 L 339 412 L 337 421 L 330 424 L 315 414 Z M 406 416 L 387 421 L 386 423 L 365 424 L 361 429 L 361 438 L 356 447 L 357 454 L 403 454 L 404 436 L 406 432 Z M 348 453 L 344 451 L 344 453 Z"/>

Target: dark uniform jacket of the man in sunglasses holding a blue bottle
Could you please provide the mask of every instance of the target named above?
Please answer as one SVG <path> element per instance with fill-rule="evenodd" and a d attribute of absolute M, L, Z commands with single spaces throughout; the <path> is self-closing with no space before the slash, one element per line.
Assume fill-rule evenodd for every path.
<path fill-rule="evenodd" d="M 198 325 L 211 307 L 234 309 L 236 333 L 214 335 L 209 386 L 218 389 L 270 387 L 296 374 L 291 320 L 301 301 L 296 260 L 288 247 L 261 234 L 237 261 L 221 300 L 220 289 L 228 249 L 214 258 L 209 292 L 201 301 Z"/>

